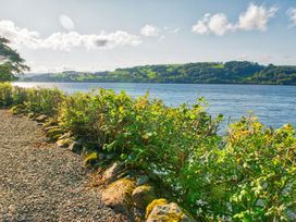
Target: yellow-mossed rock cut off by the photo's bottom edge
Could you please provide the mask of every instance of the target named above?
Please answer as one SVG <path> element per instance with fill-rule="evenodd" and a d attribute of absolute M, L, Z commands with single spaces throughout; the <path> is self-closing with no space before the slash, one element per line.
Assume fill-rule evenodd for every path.
<path fill-rule="evenodd" d="M 155 221 L 175 221 L 175 222 L 193 222 L 184 211 L 175 202 L 168 203 L 165 199 L 153 200 L 147 207 L 147 222 Z"/>

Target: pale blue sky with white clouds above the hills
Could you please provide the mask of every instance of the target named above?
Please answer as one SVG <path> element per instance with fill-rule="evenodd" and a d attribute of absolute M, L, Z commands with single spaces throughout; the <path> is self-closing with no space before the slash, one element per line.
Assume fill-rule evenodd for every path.
<path fill-rule="evenodd" d="M 295 0 L 0 0 L 33 73 L 247 60 L 296 65 Z"/>

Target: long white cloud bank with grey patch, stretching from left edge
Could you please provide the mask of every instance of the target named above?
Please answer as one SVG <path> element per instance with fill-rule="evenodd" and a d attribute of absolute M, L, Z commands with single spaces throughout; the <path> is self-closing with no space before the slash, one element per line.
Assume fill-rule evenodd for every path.
<path fill-rule="evenodd" d="M 110 49 L 119 46 L 137 46 L 141 44 L 138 36 L 123 30 L 98 35 L 83 35 L 77 32 L 53 33 L 47 38 L 41 38 L 38 32 L 20 28 L 11 21 L 0 21 L 0 36 L 10 39 L 15 47 L 65 51 L 75 47 Z"/>

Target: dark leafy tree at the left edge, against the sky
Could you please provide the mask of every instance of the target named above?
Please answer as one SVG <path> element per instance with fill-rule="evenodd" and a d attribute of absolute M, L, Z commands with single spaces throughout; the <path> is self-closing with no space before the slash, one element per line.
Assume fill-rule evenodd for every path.
<path fill-rule="evenodd" d="M 10 41 L 0 36 L 0 82 L 15 79 L 15 74 L 28 71 L 25 60 L 9 46 Z"/>

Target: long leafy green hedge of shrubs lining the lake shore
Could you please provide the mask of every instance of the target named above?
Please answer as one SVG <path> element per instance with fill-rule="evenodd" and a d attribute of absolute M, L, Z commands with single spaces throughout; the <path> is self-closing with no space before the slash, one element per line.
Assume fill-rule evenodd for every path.
<path fill-rule="evenodd" d="M 172 108 L 148 95 L 134 99 L 104 89 L 64 96 L 0 84 L 0 102 L 54 116 L 61 132 L 91 144 L 89 164 L 109 152 L 152 174 L 196 219 L 295 220 L 296 132 L 289 124 L 272 130 L 243 118 L 222 137 L 222 116 L 211 118 L 203 99 Z"/>

